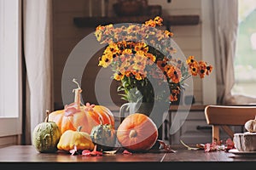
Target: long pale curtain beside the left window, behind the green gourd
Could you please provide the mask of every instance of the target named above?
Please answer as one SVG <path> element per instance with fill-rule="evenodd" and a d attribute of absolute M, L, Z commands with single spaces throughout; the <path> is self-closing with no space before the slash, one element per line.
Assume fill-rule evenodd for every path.
<path fill-rule="evenodd" d="M 52 1 L 23 0 L 24 55 L 27 75 L 26 144 L 34 127 L 52 109 Z"/>

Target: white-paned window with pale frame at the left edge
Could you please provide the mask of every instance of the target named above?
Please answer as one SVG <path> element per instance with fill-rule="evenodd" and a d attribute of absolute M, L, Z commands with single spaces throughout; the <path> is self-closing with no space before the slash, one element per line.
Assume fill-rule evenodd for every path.
<path fill-rule="evenodd" d="M 0 1 L 0 137 L 21 133 L 20 0 Z"/>

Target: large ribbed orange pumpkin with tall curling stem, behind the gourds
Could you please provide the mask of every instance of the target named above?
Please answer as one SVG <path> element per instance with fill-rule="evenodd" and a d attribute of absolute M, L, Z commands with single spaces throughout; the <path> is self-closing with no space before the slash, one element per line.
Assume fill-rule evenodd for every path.
<path fill-rule="evenodd" d="M 75 82 L 73 80 L 73 82 Z M 78 82 L 75 82 L 78 84 Z M 78 84 L 79 87 L 79 84 Z M 54 111 L 49 114 L 49 121 L 55 122 L 61 129 L 61 133 L 67 130 L 76 131 L 82 126 L 81 132 L 90 133 L 92 127 L 101 124 L 110 124 L 114 127 L 114 116 L 109 109 L 103 105 L 80 104 L 82 89 L 76 88 L 74 103 L 66 105 L 64 110 Z"/>

